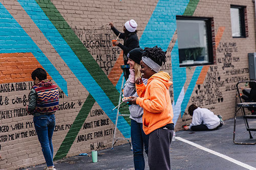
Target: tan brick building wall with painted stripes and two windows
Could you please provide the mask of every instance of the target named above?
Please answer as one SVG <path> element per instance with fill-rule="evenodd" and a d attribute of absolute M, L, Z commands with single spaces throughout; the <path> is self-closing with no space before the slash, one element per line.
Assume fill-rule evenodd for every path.
<path fill-rule="evenodd" d="M 25 109 L 37 67 L 60 90 L 54 159 L 111 147 L 123 53 L 109 22 L 121 31 L 135 19 L 140 46 L 167 51 L 176 130 L 191 122 L 191 103 L 232 118 L 235 85 L 249 80 L 256 51 L 249 0 L 0 0 L 0 9 L 1 169 L 45 163 Z M 130 137 L 129 118 L 119 117 L 117 136 Z"/>

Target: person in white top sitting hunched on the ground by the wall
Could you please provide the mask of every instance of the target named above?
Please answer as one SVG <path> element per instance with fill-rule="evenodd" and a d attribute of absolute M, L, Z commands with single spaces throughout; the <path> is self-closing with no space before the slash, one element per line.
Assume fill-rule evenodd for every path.
<path fill-rule="evenodd" d="M 215 115 L 209 109 L 200 108 L 192 104 L 188 107 L 188 113 L 192 116 L 192 122 L 189 127 L 185 126 L 184 130 L 192 131 L 209 131 L 217 130 L 224 124 L 221 115 Z"/>

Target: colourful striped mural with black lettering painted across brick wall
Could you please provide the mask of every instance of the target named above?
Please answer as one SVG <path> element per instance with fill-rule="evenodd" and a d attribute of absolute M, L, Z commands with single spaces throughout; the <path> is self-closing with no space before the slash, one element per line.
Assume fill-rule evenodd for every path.
<path fill-rule="evenodd" d="M 37 67 L 44 68 L 59 88 L 54 160 L 110 148 L 112 144 L 117 114 L 112 109 L 118 105 L 123 78 L 122 50 L 112 45 L 116 36 L 106 21 L 95 21 L 93 26 L 69 25 L 58 9 L 61 2 L 54 3 L 0 0 L 1 168 L 44 163 L 32 116 L 26 112 L 33 84 L 31 72 Z M 161 70 L 168 72 L 174 83 L 169 92 L 177 130 L 191 122 L 186 111 L 189 104 L 218 111 L 216 106 L 229 100 L 226 93 L 235 93 L 236 82 L 248 80 L 248 66 L 239 66 L 242 49 L 237 42 L 222 39 L 226 31 L 223 26 L 212 27 L 217 30 L 213 31 L 214 65 L 179 66 L 176 16 L 193 16 L 199 3 L 157 1 L 140 37 L 142 48 L 157 44 L 167 51 Z M 128 106 L 119 111 L 129 113 Z M 128 117 L 119 116 L 117 136 L 130 138 L 130 123 Z"/>

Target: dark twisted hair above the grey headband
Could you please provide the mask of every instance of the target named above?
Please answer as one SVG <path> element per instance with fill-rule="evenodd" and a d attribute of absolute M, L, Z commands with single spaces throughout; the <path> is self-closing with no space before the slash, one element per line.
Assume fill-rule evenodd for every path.
<path fill-rule="evenodd" d="M 166 62 L 166 52 L 162 50 L 162 48 L 157 45 L 153 48 L 145 47 L 142 56 L 148 57 L 156 62 L 158 65 L 162 66 Z"/>

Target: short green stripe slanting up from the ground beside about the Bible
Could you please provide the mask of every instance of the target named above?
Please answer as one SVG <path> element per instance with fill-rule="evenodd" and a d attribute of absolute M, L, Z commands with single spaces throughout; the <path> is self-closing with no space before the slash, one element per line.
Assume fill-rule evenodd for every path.
<path fill-rule="evenodd" d="M 78 132 L 80 131 L 84 121 L 89 115 L 89 112 L 93 107 L 94 103 L 95 103 L 95 100 L 93 99 L 93 96 L 89 94 L 86 101 L 83 103 L 81 110 L 77 114 L 69 132 L 67 133 L 63 142 L 61 143 L 53 160 L 61 159 L 67 156 L 72 144 L 74 143 L 78 135 Z"/>

